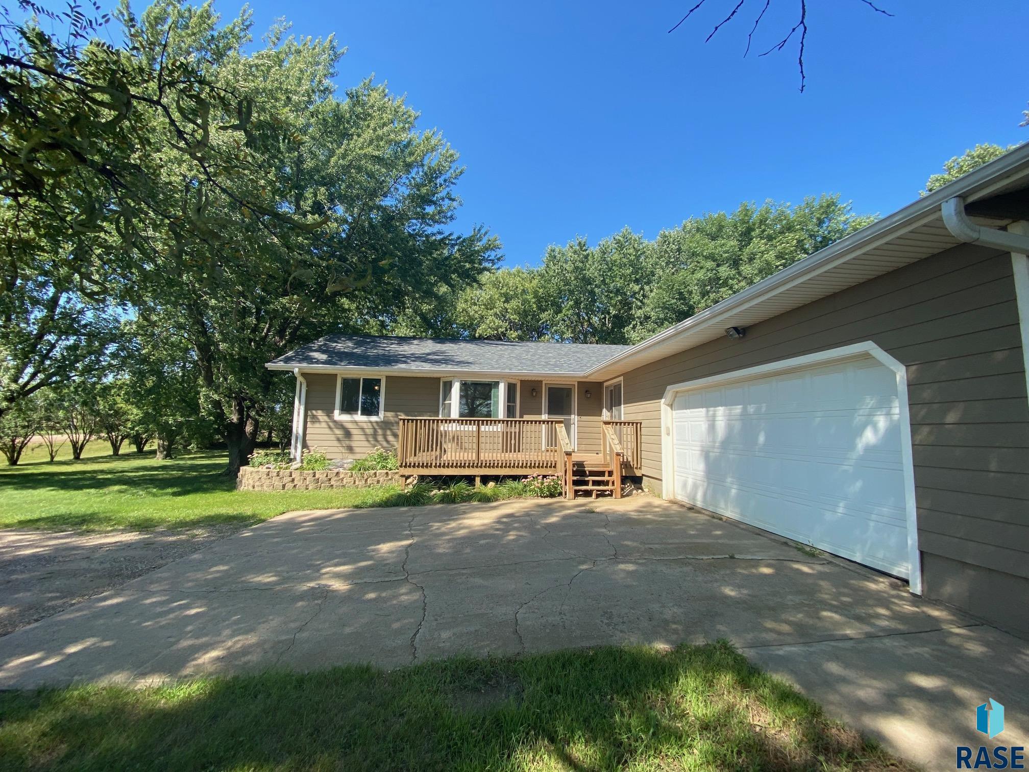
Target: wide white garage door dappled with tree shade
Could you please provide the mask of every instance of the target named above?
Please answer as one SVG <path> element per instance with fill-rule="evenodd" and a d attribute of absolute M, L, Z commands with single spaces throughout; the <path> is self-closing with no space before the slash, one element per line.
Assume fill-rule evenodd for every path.
<path fill-rule="evenodd" d="M 672 417 L 676 498 L 909 575 L 893 371 L 867 357 L 681 391 Z"/>

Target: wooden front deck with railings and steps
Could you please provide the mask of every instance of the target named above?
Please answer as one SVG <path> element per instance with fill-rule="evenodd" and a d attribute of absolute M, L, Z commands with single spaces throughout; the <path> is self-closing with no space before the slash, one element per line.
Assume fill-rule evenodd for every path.
<path fill-rule="evenodd" d="M 401 418 L 397 456 L 402 475 L 556 475 L 569 498 L 618 496 L 622 478 L 640 467 L 640 423 L 605 421 L 602 447 L 574 451 L 561 419 Z"/>

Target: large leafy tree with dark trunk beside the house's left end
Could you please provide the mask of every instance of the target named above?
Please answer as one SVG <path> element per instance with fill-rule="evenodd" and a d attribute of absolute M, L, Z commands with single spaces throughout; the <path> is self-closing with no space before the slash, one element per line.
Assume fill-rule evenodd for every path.
<path fill-rule="evenodd" d="M 141 17 L 139 34 L 149 40 L 170 29 L 168 46 L 193 49 L 216 23 L 162 3 Z M 207 238 L 166 240 L 141 279 L 140 314 L 191 347 L 205 409 L 235 472 L 274 401 L 268 360 L 477 276 L 496 244 L 482 230 L 450 230 L 462 172 L 457 153 L 438 133 L 418 131 L 402 99 L 370 80 L 335 96 L 342 51 L 332 38 L 297 40 L 280 26 L 248 54 L 249 19 L 228 29 L 239 34 L 207 50 L 206 77 L 249 95 L 277 131 L 234 178 L 232 195 L 181 154 L 159 159 L 163 186 L 182 191 L 183 211 Z M 212 112 L 208 120 L 233 118 Z M 208 138 L 216 153 L 241 141 L 236 132 Z M 253 200 L 292 221 L 251 216 L 240 202 Z"/>

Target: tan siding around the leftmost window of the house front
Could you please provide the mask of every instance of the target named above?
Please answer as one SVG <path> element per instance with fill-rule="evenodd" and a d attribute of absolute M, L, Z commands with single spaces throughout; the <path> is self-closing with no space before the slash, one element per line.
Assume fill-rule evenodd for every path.
<path fill-rule="evenodd" d="M 360 458 L 376 448 L 396 450 L 400 416 L 439 415 L 439 379 L 385 377 L 382 421 L 336 420 L 335 376 L 305 374 L 308 382 L 308 423 L 305 447 L 331 458 Z"/>

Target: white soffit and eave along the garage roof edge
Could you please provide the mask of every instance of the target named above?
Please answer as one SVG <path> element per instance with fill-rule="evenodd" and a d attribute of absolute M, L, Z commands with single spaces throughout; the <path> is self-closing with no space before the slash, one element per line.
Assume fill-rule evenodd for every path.
<path fill-rule="evenodd" d="M 1027 175 L 1029 143 L 658 332 L 586 376 L 598 381 L 612 378 L 721 338 L 725 327 L 756 324 L 955 247 L 959 242 L 944 224 L 941 204 L 954 196 L 973 202 L 1024 187 Z M 977 219 L 994 226 L 1006 224 L 1006 221 Z"/>

